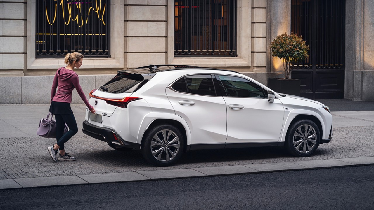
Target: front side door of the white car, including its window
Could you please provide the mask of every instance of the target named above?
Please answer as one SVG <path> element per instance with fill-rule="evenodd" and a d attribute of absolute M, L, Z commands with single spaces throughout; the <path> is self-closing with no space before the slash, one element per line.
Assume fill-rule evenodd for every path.
<path fill-rule="evenodd" d="M 267 90 L 232 75 L 218 75 L 227 96 L 226 143 L 278 142 L 283 124 L 283 105 L 279 99 L 267 101 Z M 218 82 L 220 82 L 218 81 Z"/>

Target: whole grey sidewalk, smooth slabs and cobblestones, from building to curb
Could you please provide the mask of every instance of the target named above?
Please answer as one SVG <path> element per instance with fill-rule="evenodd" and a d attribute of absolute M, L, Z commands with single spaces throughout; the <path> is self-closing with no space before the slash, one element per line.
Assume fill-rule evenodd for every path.
<path fill-rule="evenodd" d="M 66 151 L 77 160 L 53 163 L 47 146 L 52 145 L 55 139 L 46 139 L 34 134 L 35 126 L 41 117 L 45 117 L 49 105 L 0 105 L 0 107 L 0 179 L 374 156 L 374 112 L 371 111 L 359 119 L 356 118 L 358 112 L 334 112 L 333 117 L 340 122 L 333 128 L 334 138 L 330 143 L 321 145 L 312 157 L 306 158 L 292 157 L 281 147 L 196 150 L 183 154 L 174 166 L 153 167 L 144 160 L 140 151 L 119 152 L 100 140 L 83 135 L 80 131 L 65 144 Z M 81 129 L 85 106 L 72 105 L 72 109 Z M 4 138 L 5 134 L 18 137 Z"/>

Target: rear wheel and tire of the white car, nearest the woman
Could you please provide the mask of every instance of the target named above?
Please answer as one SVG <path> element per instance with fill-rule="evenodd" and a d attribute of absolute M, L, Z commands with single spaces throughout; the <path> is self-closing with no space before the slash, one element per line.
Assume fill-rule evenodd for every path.
<path fill-rule="evenodd" d="M 141 152 L 145 160 L 155 166 L 170 166 L 178 161 L 183 149 L 184 138 L 180 130 L 161 124 L 145 133 Z"/>

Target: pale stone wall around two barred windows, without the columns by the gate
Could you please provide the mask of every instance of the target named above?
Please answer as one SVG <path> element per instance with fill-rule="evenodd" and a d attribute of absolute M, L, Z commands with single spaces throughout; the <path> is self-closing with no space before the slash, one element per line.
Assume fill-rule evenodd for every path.
<path fill-rule="evenodd" d="M 238 0 L 236 58 L 174 58 L 173 0 L 111 0 L 111 58 L 76 70 L 88 93 L 117 70 L 149 64 L 225 68 L 266 83 L 266 1 Z M 63 59 L 35 58 L 36 0 L 0 0 L 0 104 L 48 104 Z M 11 95 L 12 97 L 6 97 Z M 82 104 L 76 92 L 73 103 Z"/>

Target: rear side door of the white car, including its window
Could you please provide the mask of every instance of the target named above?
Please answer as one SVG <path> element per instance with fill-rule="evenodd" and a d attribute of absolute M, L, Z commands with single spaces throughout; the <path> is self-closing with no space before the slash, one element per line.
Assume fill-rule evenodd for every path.
<path fill-rule="evenodd" d="M 187 75 L 166 88 L 175 114 L 186 120 L 191 144 L 226 142 L 226 103 L 217 96 L 211 74 Z M 217 146 L 216 146 L 217 148 Z"/>

